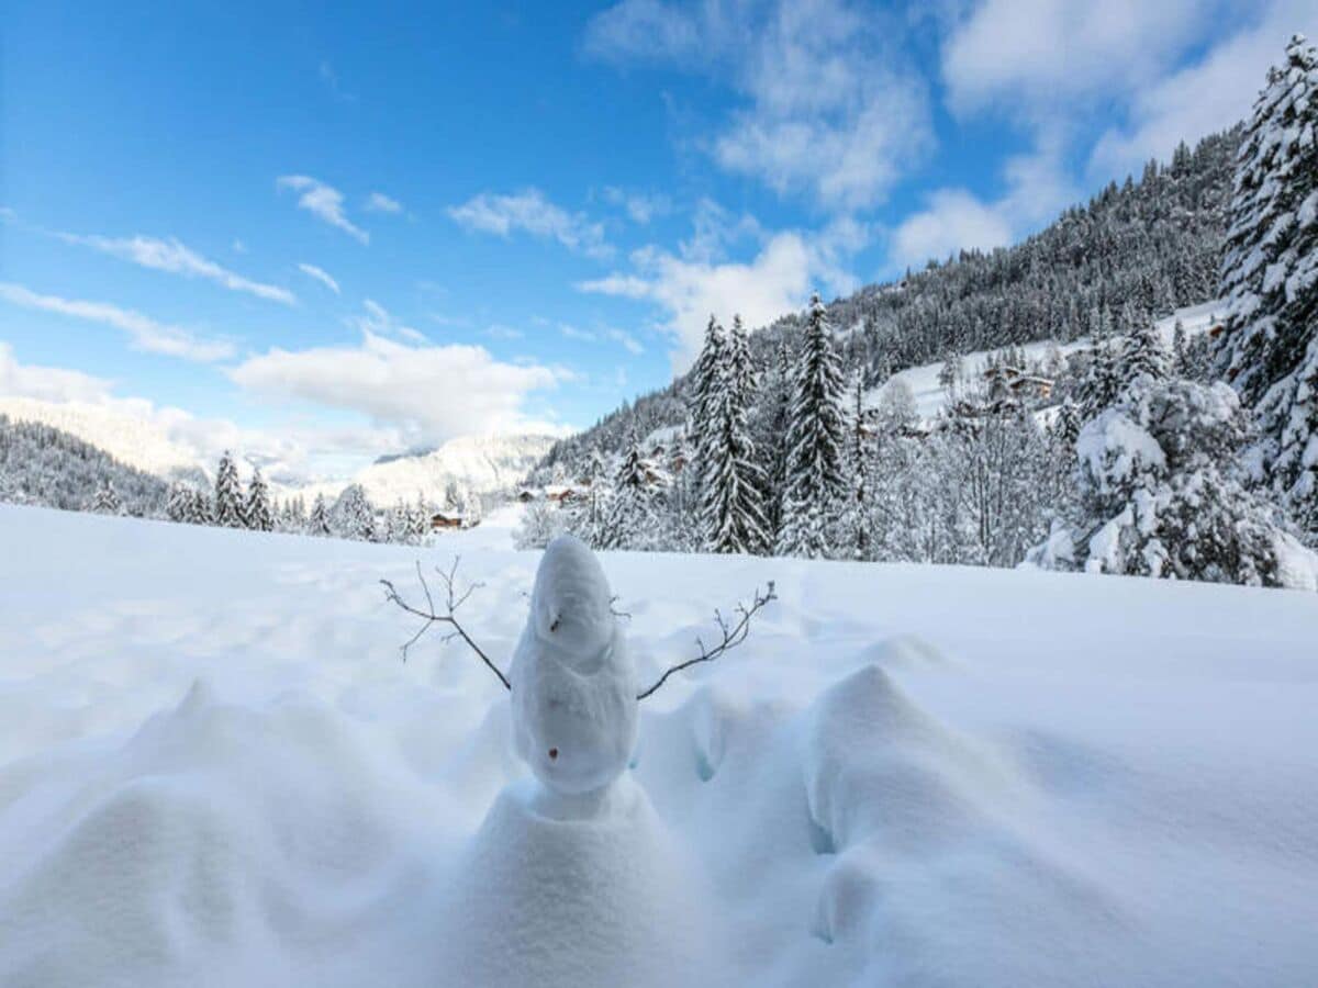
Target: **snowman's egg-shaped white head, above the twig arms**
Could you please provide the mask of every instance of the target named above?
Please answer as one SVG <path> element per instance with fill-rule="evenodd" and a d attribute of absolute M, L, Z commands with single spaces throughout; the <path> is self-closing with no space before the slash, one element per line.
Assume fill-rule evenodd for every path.
<path fill-rule="evenodd" d="M 560 535 L 535 573 L 535 634 L 568 653 L 593 655 L 613 636 L 613 595 L 604 568 L 585 543 Z"/>

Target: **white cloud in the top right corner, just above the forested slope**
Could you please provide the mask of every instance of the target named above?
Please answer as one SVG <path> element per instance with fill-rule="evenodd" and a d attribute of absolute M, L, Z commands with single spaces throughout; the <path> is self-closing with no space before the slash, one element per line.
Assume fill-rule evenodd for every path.
<path fill-rule="evenodd" d="M 1277 63 L 1290 34 L 1318 30 L 1313 0 L 1260 4 L 1260 18 L 1210 47 L 1189 66 L 1133 97 L 1130 124 L 1110 129 L 1094 148 L 1090 167 L 1114 175 L 1149 158 L 1166 159 L 1178 141 L 1231 126 L 1249 115 L 1268 67 Z"/>

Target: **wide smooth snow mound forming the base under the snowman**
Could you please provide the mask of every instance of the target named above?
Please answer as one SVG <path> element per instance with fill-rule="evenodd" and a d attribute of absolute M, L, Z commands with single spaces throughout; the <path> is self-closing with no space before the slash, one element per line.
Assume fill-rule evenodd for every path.
<path fill-rule="evenodd" d="M 718 984 L 713 917 L 629 779 L 587 797 L 500 793 L 452 879 L 453 984 Z"/>

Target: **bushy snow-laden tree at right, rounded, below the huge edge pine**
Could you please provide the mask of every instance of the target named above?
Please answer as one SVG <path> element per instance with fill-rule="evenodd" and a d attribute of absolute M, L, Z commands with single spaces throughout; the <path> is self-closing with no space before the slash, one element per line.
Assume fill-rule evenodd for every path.
<path fill-rule="evenodd" d="M 1234 464 L 1249 420 L 1223 383 L 1133 383 L 1079 433 L 1079 518 L 1029 563 L 1178 580 L 1293 585 L 1278 557 L 1305 553 Z"/>

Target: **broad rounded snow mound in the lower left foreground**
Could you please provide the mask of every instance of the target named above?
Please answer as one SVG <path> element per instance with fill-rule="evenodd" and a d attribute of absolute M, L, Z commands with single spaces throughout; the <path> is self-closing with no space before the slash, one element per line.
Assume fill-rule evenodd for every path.
<path fill-rule="evenodd" d="M 9 984 L 297 980 L 406 830 L 390 765 L 306 697 L 256 711 L 198 682 L 96 772 L 67 769 L 11 808 L 43 839 L 0 896 Z"/>

